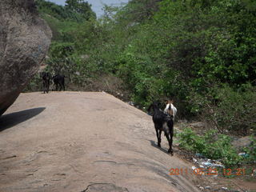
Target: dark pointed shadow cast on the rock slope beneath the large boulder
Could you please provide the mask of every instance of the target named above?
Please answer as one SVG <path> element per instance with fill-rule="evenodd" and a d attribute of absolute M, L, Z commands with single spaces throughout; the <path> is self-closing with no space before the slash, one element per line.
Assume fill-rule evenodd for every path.
<path fill-rule="evenodd" d="M 21 122 L 26 122 L 28 119 L 41 114 L 45 109 L 46 107 L 38 107 L 2 115 L 2 117 L 0 117 L 0 132 L 12 126 L 16 126 Z"/>

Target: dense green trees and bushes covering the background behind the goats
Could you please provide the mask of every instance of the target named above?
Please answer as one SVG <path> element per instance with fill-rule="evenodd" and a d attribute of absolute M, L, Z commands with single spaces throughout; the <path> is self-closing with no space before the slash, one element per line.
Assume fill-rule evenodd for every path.
<path fill-rule="evenodd" d="M 256 130 L 256 2 L 132 0 L 105 6 L 37 0 L 54 38 L 46 59 L 70 90 L 105 90 L 138 106 L 174 98 L 179 118 L 220 133 Z M 28 86 L 38 90 L 38 78 Z"/>

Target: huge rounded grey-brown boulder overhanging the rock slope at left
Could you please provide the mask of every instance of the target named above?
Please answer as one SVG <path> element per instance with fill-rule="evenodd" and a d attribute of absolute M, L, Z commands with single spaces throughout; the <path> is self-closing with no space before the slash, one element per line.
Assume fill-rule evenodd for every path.
<path fill-rule="evenodd" d="M 37 72 L 50 38 L 34 0 L 0 1 L 0 115 Z"/>

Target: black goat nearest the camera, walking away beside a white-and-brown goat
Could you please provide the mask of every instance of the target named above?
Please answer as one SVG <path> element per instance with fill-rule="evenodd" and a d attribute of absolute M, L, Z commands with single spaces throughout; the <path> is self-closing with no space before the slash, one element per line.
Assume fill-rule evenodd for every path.
<path fill-rule="evenodd" d="M 151 108 L 153 108 L 154 110 L 153 122 L 154 122 L 154 128 L 158 138 L 158 147 L 161 147 L 161 134 L 162 134 L 162 131 L 164 131 L 170 146 L 168 153 L 173 155 L 174 152 L 172 150 L 172 145 L 173 145 L 173 136 L 174 136 L 174 120 L 172 116 L 164 114 L 164 112 L 162 112 L 162 110 L 160 110 L 158 106 L 159 106 L 158 103 L 154 102 L 153 104 L 150 105 L 148 109 L 148 111 L 150 111 Z"/>

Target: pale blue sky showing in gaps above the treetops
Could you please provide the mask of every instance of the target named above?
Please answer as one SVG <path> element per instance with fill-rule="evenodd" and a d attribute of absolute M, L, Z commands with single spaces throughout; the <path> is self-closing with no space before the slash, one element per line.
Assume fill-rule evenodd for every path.
<path fill-rule="evenodd" d="M 48 0 L 49 2 L 55 2 L 58 5 L 65 5 L 66 0 Z M 103 4 L 108 6 L 121 6 L 122 3 L 126 3 L 129 0 L 87 0 L 92 6 L 92 10 L 97 14 L 99 18 L 104 12 L 102 10 Z M 86 2 L 86 1 L 85 1 Z"/>

